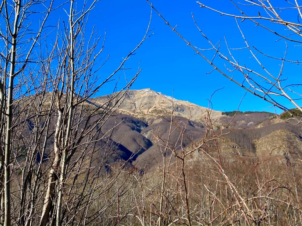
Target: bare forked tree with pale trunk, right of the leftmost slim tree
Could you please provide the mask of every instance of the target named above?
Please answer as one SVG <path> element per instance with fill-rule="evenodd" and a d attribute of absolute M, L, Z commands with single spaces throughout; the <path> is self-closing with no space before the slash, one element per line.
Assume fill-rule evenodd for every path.
<path fill-rule="evenodd" d="M 100 130 L 100 124 L 104 124 L 113 112 L 116 111 L 127 92 L 123 92 L 123 95 L 119 95 L 121 92 L 117 92 L 108 100 L 106 105 L 97 106 L 97 110 L 101 110 L 98 114 L 96 114 L 96 110 L 89 113 L 89 111 L 84 109 L 92 106 L 92 104 L 87 104 L 88 98 L 92 97 L 104 83 L 107 83 L 115 74 L 122 70 L 125 62 L 149 37 L 150 30 L 148 26 L 145 36 L 137 47 L 124 58 L 111 75 L 100 82 L 97 75 L 99 66 L 97 66 L 96 63 L 104 46 L 97 51 L 99 39 L 95 39 L 95 31 L 92 31 L 87 43 L 84 37 L 87 16 L 94 8 L 96 2 L 98 1 L 93 1 L 89 5 L 85 3 L 83 9 L 79 11 L 74 6 L 74 1 L 72 0 L 70 2 L 69 26 L 66 27 L 66 33 L 61 37 L 63 41 L 62 47 L 58 47 L 60 66 L 57 68 L 56 74 L 58 74 L 58 77 L 56 78 L 54 88 L 57 93 L 56 108 L 58 112 L 54 134 L 54 161 L 50 169 L 40 225 L 46 225 L 48 219 L 50 219 L 51 206 L 56 206 L 56 224 L 61 224 L 63 188 L 66 183 L 66 169 L 69 165 L 69 161 L 78 151 L 83 140 L 85 140 L 86 137 L 90 137 L 91 133 L 94 133 L 93 130 L 95 127 L 99 126 L 98 130 Z M 86 45 L 88 45 L 88 48 L 86 48 Z M 140 71 L 141 69 L 139 68 L 133 76 L 133 79 L 131 79 L 122 90 L 128 90 L 130 88 Z M 97 81 L 99 85 L 96 85 Z M 113 101 L 115 104 L 111 106 L 111 102 Z M 93 115 L 96 115 L 96 117 L 94 121 L 91 122 L 90 120 Z M 84 120 L 82 121 L 82 119 Z M 82 132 L 78 131 L 79 127 L 82 127 Z M 88 140 L 86 142 L 97 142 L 106 136 L 107 134 L 104 134 L 97 139 L 93 137 L 94 140 Z M 58 172 L 58 169 L 60 172 Z M 55 198 L 54 186 L 57 179 L 59 179 L 59 189 L 58 196 Z M 54 200 L 56 200 L 56 202 L 54 202 Z"/>

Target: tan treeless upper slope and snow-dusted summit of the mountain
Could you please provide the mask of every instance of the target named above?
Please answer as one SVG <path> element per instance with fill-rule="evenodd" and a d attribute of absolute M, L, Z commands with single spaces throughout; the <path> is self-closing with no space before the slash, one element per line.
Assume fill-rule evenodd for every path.
<path fill-rule="evenodd" d="M 120 93 L 120 96 L 124 93 Z M 92 98 L 89 101 L 98 106 L 105 105 L 112 94 Z M 116 102 L 111 102 L 115 105 Z M 237 114 L 236 116 L 222 115 L 221 111 L 209 110 L 188 101 L 177 100 L 171 96 L 164 95 L 151 89 L 129 90 L 119 106 L 119 112 L 140 118 L 147 123 L 152 123 L 160 117 L 173 116 L 183 117 L 192 121 L 204 123 L 205 118 L 210 115 L 214 126 L 227 125 L 235 128 L 257 127 L 267 119 L 272 119 L 272 113 L 250 112 L 249 114 Z"/>

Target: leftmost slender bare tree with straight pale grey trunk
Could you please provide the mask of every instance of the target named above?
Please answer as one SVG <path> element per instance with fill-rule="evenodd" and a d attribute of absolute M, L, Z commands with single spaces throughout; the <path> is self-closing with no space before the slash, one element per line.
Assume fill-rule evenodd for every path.
<path fill-rule="evenodd" d="M 52 1 L 43 12 L 40 28 L 36 31 L 30 31 L 30 24 L 26 23 L 28 17 L 34 11 L 32 10 L 34 1 L 2 1 L 1 15 L 5 25 L 1 31 L 1 39 L 3 43 L 2 54 L 2 78 L 1 78 L 1 112 L 5 112 L 6 126 L 3 129 L 5 133 L 5 150 L 4 150 L 4 224 L 11 224 L 11 201 L 10 201 L 10 175 L 11 175 L 11 153 L 12 153 L 12 118 L 13 118 L 13 99 L 14 89 L 22 86 L 22 84 L 14 83 L 14 79 L 18 76 L 24 76 L 24 70 L 28 67 L 28 63 L 34 59 L 33 50 L 37 45 L 45 22 L 50 11 L 52 10 Z M 39 13 L 39 12 L 37 12 Z M 40 12 L 42 13 L 42 12 Z M 5 55 L 6 54 L 6 55 Z M 16 87 L 17 85 L 17 87 Z M 24 85 L 24 84 L 23 84 Z M 20 90 L 18 90 L 20 92 Z M 28 93 L 28 91 L 27 91 Z M 2 196 L 3 197 L 3 196 Z M 3 208 L 2 208 L 3 210 Z"/>

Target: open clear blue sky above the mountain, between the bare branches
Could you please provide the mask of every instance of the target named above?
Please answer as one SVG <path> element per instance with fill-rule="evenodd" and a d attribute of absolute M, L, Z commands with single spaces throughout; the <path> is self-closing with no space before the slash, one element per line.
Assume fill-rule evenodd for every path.
<path fill-rule="evenodd" d="M 231 47 L 243 47 L 243 39 L 233 18 L 220 16 L 201 8 L 195 0 L 153 0 L 152 2 L 172 26 L 178 24 L 178 31 L 185 38 L 191 40 L 193 45 L 201 49 L 209 48 L 209 46 L 196 29 L 191 12 L 193 12 L 203 32 L 213 42 L 217 42 L 223 39 L 223 36 L 226 36 Z M 239 14 L 229 1 L 205 0 L 203 2 L 223 11 Z M 257 11 L 249 12 L 251 15 L 257 15 Z M 287 16 L 293 16 L 296 20 L 296 15 L 288 14 Z M 101 36 L 106 30 L 103 59 L 110 54 L 109 61 L 100 70 L 102 77 L 107 77 L 119 65 L 122 57 L 126 56 L 140 42 L 148 25 L 149 17 L 150 6 L 145 0 L 102 0 L 97 3 L 89 18 L 90 25 L 95 24 Z M 255 27 L 249 21 L 244 21 L 241 25 L 251 45 L 274 56 L 283 56 L 285 50 L 283 40 L 275 42 L 276 36 L 265 32 L 260 27 Z M 135 73 L 139 62 L 143 69 L 132 89 L 151 88 L 169 96 L 172 96 L 174 89 L 176 99 L 207 106 L 207 99 L 210 98 L 211 94 L 216 89 L 224 87 L 223 90 L 214 95 L 213 108 L 220 111 L 237 109 L 240 99 L 245 94 L 242 88 L 216 72 L 206 74 L 212 68 L 200 56 L 194 55 L 194 51 L 165 25 L 155 12 L 153 12 L 151 28 L 154 28 L 154 35 L 143 43 L 137 54 L 126 65 L 126 67 L 133 68 L 132 71 L 126 71 L 128 79 Z M 290 46 L 289 55 L 294 60 L 299 59 L 301 48 Z M 258 67 L 246 53 L 237 51 L 235 56 L 241 62 L 247 62 L 250 66 Z M 272 73 L 279 72 L 278 63 L 265 60 L 265 64 Z M 219 65 L 222 66 L 222 64 Z M 299 82 L 301 73 L 300 70 L 297 70 L 297 67 L 288 65 L 285 69 L 288 75 L 284 73 L 284 77 L 291 77 L 292 81 Z M 125 79 L 122 71 L 120 71 L 120 74 L 119 87 L 122 87 L 125 84 Z M 114 83 L 106 84 L 98 92 L 98 96 L 111 93 L 113 86 Z M 287 107 L 292 107 L 286 102 L 284 104 Z M 274 109 L 270 108 L 268 103 L 251 94 L 245 96 L 239 110 L 274 112 Z"/>

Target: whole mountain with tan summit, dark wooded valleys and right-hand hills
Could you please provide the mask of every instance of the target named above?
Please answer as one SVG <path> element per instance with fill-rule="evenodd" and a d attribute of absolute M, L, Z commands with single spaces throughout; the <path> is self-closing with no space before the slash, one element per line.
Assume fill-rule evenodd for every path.
<path fill-rule="evenodd" d="M 302 159 L 302 128 L 290 120 L 282 121 L 279 115 L 251 111 L 226 115 L 151 89 L 129 90 L 128 93 L 89 99 L 85 103 L 85 112 L 108 105 L 117 106 L 117 102 L 111 101 L 112 95 L 120 96 L 123 102 L 105 123 L 97 125 L 95 130 L 98 133 L 93 138 L 98 140 L 94 147 L 98 149 L 97 155 L 104 155 L 108 147 L 111 149 L 107 164 L 121 161 L 139 169 L 155 169 L 162 164 L 162 152 L 167 144 L 170 147 L 167 156 L 171 156 L 171 149 L 175 153 L 188 150 L 203 142 L 211 124 L 216 133 L 226 127 L 223 131 L 225 135 L 217 139 L 220 154 L 226 162 L 256 164 L 270 158 L 282 164 L 302 163 L 298 161 Z M 47 98 L 45 106 L 43 105 L 45 109 L 49 108 Z M 27 99 L 24 99 L 24 105 L 27 104 Z M 207 121 L 207 124 L 208 114 L 211 122 Z M 92 119 L 89 123 L 94 123 Z M 54 131 L 55 121 L 54 118 L 51 133 Z M 34 121 L 29 118 L 27 124 L 28 131 L 23 132 L 23 137 L 32 136 Z M 110 136 L 101 139 L 104 134 Z M 53 142 L 50 138 L 47 143 L 47 155 L 51 153 Z M 215 155 L 216 144 L 211 141 L 207 145 L 207 151 Z M 203 159 L 200 152 L 191 157 L 198 161 Z"/>

